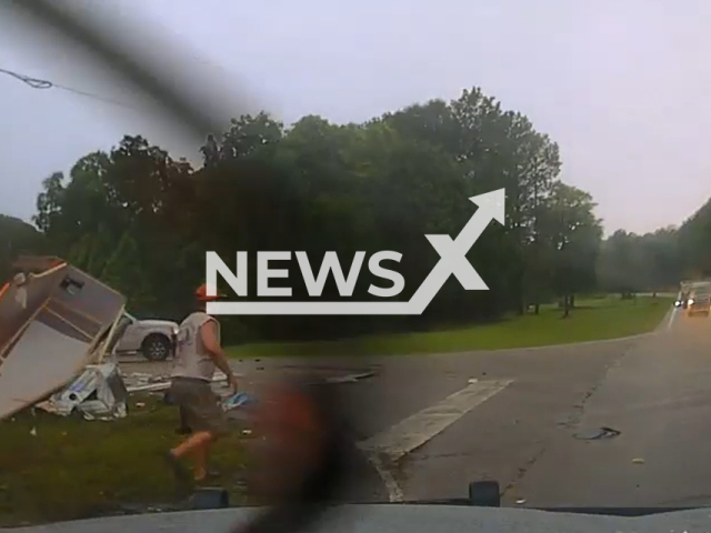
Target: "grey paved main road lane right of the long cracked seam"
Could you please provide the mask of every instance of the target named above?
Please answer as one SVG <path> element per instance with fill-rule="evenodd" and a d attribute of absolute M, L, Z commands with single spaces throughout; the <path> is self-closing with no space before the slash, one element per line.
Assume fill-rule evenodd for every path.
<path fill-rule="evenodd" d="M 711 322 L 678 313 L 619 359 L 575 424 L 600 425 L 621 434 L 549 442 L 518 487 L 528 503 L 710 504 Z"/>

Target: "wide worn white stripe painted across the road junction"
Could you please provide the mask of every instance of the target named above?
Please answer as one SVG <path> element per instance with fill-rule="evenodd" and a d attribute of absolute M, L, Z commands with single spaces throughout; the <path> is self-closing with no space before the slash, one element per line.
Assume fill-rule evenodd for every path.
<path fill-rule="evenodd" d="M 388 491 L 389 500 L 391 502 L 401 502 L 403 493 L 392 473 L 383 464 L 382 455 L 388 457 L 390 462 L 402 459 L 403 455 L 420 447 L 512 382 L 513 380 L 471 383 L 441 402 L 423 409 L 370 439 L 361 441 L 358 446 L 365 452 L 368 459 L 378 471 Z"/>

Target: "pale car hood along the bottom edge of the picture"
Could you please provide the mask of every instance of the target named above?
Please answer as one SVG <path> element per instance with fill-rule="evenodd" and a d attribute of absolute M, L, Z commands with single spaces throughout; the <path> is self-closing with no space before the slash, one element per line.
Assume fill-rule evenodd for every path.
<path fill-rule="evenodd" d="M 244 524 L 258 510 L 226 509 L 182 511 L 61 522 L 42 526 L 1 530 L 7 533 L 227 533 Z M 614 531 L 709 531 L 711 509 L 668 512 L 640 517 L 587 515 L 513 507 L 453 505 L 343 505 L 333 507 L 308 532 L 332 533 L 609 533 Z M 307 533 L 304 531 L 303 533 Z M 290 533 L 290 532 L 284 532 Z"/>

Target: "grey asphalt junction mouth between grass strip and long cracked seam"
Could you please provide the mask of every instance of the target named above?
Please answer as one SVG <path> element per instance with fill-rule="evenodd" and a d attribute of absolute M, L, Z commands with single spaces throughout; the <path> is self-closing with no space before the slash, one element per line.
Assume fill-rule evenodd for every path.
<path fill-rule="evenodd" d="M 398 489 L 389 496 L 462 497 L 470 481 L 493 479 L 508 487 L 508 502 L 518 500 L 518 483 L 553 440 L 570 433 L 608 369 L 638 342 L 388 360 L 379 380 L 352 389 L 370 405 L 360 415 L 361 436 L 387 435 L 392 424 L 438 404 L 434 419 L 450 415 L 450 425 L 437 434 L 423 421 L 430 439 L 388 469 Z M 507 382 L 468 412 L 449 400 L 462 389 Z"/>

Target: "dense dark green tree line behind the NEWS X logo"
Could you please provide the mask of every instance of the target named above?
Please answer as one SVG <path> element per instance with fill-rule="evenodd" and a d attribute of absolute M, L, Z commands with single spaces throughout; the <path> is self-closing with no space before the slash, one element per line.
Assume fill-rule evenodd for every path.
<path fill-rule="evenodd" d="M 505 224 L 492 222 L 468 254 L 490 291 L 464 291 L 452 276 L 421 316 L 226 320 L 231 341 L 327 339 L 491 321 L 555 300 L 567 314 L 575 293 L 678 281 L 675 250 L 699 239 L 684 229 L 689 222 L 603 241 L 592 197 L 560 179 L 558 144 L 478 88 L 363 123 L 308 115 L 287 127 L 267 113 L 242 115 L 209 137 L 201 153 L 193 167 L 126 135 L 81 158 L 68 175 L 48 177 L 37 229 L 0 219 L 0 247 L 2 235 L 12 242 L 0 250 L 0 275 L 13 254 L 53 253 L 124 293 L 134 314 L 179 319 L 204 279 L 207 250 L 232 269 L 236 252 L 247 251 L 252 295 L 257 251 L 304 251 L 317 273 L 324 253 L 336 251 L 348 275 L 356 252 L 393 250 L 402 259 L 388 268 L 405 280 L 395 298 L 409 300 L 439 260 L 424 235 L 454 238 L 477 209 L 470 197 L 505 189 Z M 660 266 L 642 269 L 642 282 L 645 254 Z M 711 269 L 701 250 L 685 259 L 683 268 Z M 309 298 L 296 260 L 289 270 L 288 282 L 270 283 Z M 373 300 L 371 283 L 383 282 L 363 269 L 352 298 Z M 320 298 L 339 298 L 332 275 Z"/>

